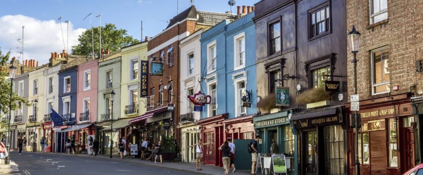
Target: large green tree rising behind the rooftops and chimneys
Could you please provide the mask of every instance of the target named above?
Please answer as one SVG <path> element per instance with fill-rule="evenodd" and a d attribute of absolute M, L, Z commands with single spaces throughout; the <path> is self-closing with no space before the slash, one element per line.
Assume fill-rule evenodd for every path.
<path fill-rule="evenodd" d="M 100 50 L 100 27 L 93 28 L 94 31 L 94 56 L 98 57 Z M 72 46 L 72 54 L 91 56 L 93 52 L 91 29 L 82 33 L 78 38 L 79 44 Z M 111 53 L 118 51 L 120 48 L 135 44 L 138 40 L 127 35 L 124 29 L 117 29 L 114 24 L 106 24 L 101 27 L 101 48 L 109 49 Z"/>

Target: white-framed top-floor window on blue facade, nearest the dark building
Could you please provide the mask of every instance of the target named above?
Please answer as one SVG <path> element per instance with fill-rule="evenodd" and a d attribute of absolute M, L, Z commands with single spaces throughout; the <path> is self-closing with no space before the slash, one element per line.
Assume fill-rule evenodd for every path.
<path fill-rule="evenodd" d="M 239 45 L 240 41 L 241 46 Z M 242 59 L 240 59 L 240 55 L 242 55 Z M 242 32 L 234 36 L 234 70 L 245 68 L 245 55 L 245 32 Z"/>

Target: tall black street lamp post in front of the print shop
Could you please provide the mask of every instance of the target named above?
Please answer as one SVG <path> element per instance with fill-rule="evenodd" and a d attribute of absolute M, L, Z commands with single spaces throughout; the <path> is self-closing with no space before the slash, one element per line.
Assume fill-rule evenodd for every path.
<path fill-rule="evenodd" d="M 353 30 L 348 32 L 348 43 L 351 52 L 354 55 L 354 95 L 357 95 L 357 53 L 359 52 L 359 43 L 360 43 L 360 32 L 356 31 L 356 27 L 353 26 Z M 355 138 L 355 153 L 356 153 L 356 161 L 354 164 L 356 165 L 356 175 L 360 175 L 360 161 L 359 161 L 359 117 L 357 111 L 355 111 L 355 128 L 356 128 L 356 138 Z"/>

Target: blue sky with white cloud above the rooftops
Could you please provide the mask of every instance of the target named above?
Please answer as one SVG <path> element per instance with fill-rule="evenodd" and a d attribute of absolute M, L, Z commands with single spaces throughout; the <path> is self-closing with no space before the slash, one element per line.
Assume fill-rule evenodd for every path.
<path fill-rule="evenodd" d="M 253 6 L 257 2 L 258 0 L 238 0 L 232 12 L 236 13 L 236 6 Z M 190 0 L 179 0 L 179 12 L 190 5 Z M 200 11 L 224 13 L 230 10 L 228 0 L 194 0 L 194 5 Z M 50 52 L 60 52 L 65 48 L 57 19 L 62 17 L 64 40 L 66 24 L 63 22 L 70 22 L 70 52 L 70 47 L 77 43 L 78 35 L 91 27 L 89 19 L 83 21 L 89 13 L 93 13 L 94 27 L 99 26 L 99 20 L 95 16 L 101 14 L 103 25 L 113 23 L 139 40 L 141 21 L 144 26 L 143 38 L 157 35 L 167 26 L 163 21 L 169 21 L 177 14 L 177 0 L 4 0 L 0 6 L 0 47 L 4 52 L 11 49 L 13 56 L 19 56 L 17 40 L 22 36 L 21 27 L 25 26 L 24 58 L 31 57 L 45 63 Z"/>

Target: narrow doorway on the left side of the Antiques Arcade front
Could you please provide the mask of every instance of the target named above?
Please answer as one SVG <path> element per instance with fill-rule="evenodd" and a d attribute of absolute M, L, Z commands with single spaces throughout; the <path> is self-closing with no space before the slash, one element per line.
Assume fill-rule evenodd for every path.
<path fill-rule="evenodd" d="M 318 174 L 318 142 L 317 131 L 312 130 L 305 133 L 305 174 L 315 175 Z"/>

